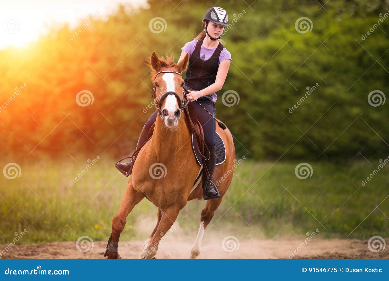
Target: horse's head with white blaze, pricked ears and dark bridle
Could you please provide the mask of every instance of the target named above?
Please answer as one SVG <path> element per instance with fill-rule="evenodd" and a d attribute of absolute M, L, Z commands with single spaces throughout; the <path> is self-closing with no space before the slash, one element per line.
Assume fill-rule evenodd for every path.
<path fill-rule="evenodd" d="M 174 56 L 158 58 L 152 52 L 150 66 L 152 67 L 151 79 L 154 83 L 155 107 L 158 114 L 165 121 L 166 127 L 174 128 L 181 117 L 182 100 L 184 98 L 184 79 L 181 74 L 186 70 L 189 55 L 176 65 Z"/>

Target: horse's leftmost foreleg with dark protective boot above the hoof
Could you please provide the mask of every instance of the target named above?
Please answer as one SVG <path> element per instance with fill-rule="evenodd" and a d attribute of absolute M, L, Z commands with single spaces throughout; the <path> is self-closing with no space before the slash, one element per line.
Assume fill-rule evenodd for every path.
<path fill-rule="evenodd" d="M 117 212 L 116 216 L 112 220 L 112 234 L 111 239 L 113 243 L 109 242 L 113 248 L 117 248 L 117 243 L 119 235 L 124 229 L 124 226 L 127 222 L 127 216 L 132 211 L 132 209 L 135 207 L 136 204 L 138 204 L 142 199 L 144 198 L 143 192 L 137 192 L 130 181 L 128 184 L 128 187 L 126 189 L 126 192 L 124 193 L 123 200 L 121 202 L 119 211 Z M 116 243 L 116 244 L 115 244 Z M 112 250 L 112 246 L 110 249 Z M 116 252 L 110 252 L 107 249 L 106 258 L 120 258 L 119 253 Z"/>

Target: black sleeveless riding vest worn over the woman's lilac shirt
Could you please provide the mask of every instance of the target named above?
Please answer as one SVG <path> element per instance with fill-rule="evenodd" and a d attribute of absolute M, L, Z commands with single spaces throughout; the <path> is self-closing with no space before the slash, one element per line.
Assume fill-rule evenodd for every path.
<path fill-rule="evenodd" d="M 202 61 L 200 58 L 200 48 L 203 40 L 197 41 L 195 51 L 189 58 L 189 67 L 184 79 L 186 86 L 196 91 L 200 91 L 215 83 L 217 70 L 219 69 L 220 52 L 224 48 L 219 42 L 212 56 L 206 61 Z M 212 94 L 208 96 L 212 96 Z"/>

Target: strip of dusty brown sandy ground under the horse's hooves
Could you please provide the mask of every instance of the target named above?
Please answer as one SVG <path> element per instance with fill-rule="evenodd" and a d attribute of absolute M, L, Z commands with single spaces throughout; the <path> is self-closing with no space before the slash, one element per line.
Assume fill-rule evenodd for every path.
<path fill-rule="evenodd" d="M 389 241 L 388 239 L 385 239 Z M 291 258 L 290 254 L 304 238 L 259 240 L 245 239 L 239 241 L 239 248 L 232 252 L 223 250 L 221 241 L 204 239 L 202 251 L 198 258 Z M 138 258 L 144 241 L 125 241 L 119 243 L 122 258 Z M 161 242 L 157 258 L 189 258 L 193 241 Z M 43 244 L 22 244 L 13 246 L 2 258 L 103 258 L 107 242 L 98 241 L 93 249 L 82 253 L 77 250 L 75 242 L 58 242 Z M 6 245 L 1 245 L 4 249 Z M 357 239 L 313 239 L 292 258 L 389 258 L 389 250 L 373 253 L 368 249 L 367 240 Z"/>

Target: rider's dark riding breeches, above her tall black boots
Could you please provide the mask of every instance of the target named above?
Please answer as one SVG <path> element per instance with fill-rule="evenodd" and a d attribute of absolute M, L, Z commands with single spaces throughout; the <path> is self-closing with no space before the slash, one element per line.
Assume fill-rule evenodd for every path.
<path fill-rule="evenodd" d="M 207 108 L 207 110 L 212 115 L 215 116 L 216 108 L 215 108 L 215 103 L 214 102 L 210 101 L 207 98 L 203 98 L 203 97 L 201 97 L 201 98 L 199 98 L 197 100 L 205 108 Z M 211 117 L 211 115 L 208 114 L 208 112 L 206 112 L 204 110 L 204 108 L 201 107 L 201 105 L 199 105 L 197 103 L 197 101 L 192 101 L 191 104 L 193 106 L 195 106 L 196 114 L 197 114 L 197 119 L 199 120 L 200 124 L 203 127 L 205 145 L 207 145 L 207 148 L 209 150 L 211 150 L 215 146 L 216 121 Z M 157 111 L 154 111 L 154 113 L 152 113 L 152 115 L 150 116 L 149 120 L 147 120 L 147 122 L 146 122 L 146 124 L 144 126 L 147 131 L 150 130 L 152 124 L 154 124 L 156 119 L 157 119 Z"/>

